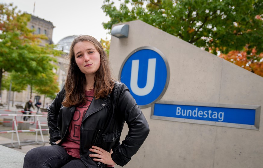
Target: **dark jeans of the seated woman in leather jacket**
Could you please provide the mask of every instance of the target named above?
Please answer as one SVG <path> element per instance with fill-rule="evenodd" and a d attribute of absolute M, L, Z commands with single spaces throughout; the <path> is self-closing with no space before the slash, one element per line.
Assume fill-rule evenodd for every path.
<path fill-rule="evenodd" d="M 24 158 L 24 168 L 77 168 L 86 167 L 76 157 L 67 154 L 67 151 L 58 145 L 40 146 L 27 152 Z"/>

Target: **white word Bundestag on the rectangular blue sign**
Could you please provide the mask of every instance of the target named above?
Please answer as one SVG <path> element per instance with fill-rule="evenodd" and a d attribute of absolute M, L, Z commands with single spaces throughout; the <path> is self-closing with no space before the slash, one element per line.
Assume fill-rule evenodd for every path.
<path fill-rule="evenodd" d="M 199 117 L 199 118 L 214 118 L 218 119 L 218 121 L 222 122 L 224 120 L 224 112 L 217 112 L 217 111 L 202 111 L 196 108 L 195 110 L 182 110 L 180 107 L 176 108 L 176 115 L 177 116 L 190 116 L 190 117 Z"/>

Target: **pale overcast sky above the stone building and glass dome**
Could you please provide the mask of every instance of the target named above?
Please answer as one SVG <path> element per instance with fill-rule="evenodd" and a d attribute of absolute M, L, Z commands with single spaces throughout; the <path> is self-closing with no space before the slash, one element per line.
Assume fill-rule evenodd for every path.
<path fill-rule="evenodd" d="M 111 38 L 102 26 L 102 22 L 110 20 L 101 9 L 103 0 L 0 0 L 0 3 L 11 2 L 29 14 L 33 14 L 36 2 L 34 15 L 55 26 L 52 37 L 55 44 L 70 35 L 87 34 L 97 40 Z"/>

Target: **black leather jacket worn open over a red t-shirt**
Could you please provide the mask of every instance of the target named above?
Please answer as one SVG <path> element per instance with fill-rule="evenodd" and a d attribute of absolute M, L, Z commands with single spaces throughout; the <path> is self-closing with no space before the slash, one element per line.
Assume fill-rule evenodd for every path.
<path fill-rule="evenodd" d="M 67 108 L 61 105 L 64 92 L 62 88 L 48 108 L 50 144 L 62 139 L 60 145 L 66 139 L 68 125 L 75 112 L 75 106 Z M 120 144 L 125 121 L 129 132 Z M 124 166 L 139 150 L 148 134 L 149 125 L 129 89 L 125 84 L 115 82 L 111 94 L 106 98 L 93 98 L 86 111 L 80 127 L 80 158 L 88 168 L 106 166 L 89 157 L 89 149 L 95 145 L 108 152 L 113 149 L 112 160 Z"/>

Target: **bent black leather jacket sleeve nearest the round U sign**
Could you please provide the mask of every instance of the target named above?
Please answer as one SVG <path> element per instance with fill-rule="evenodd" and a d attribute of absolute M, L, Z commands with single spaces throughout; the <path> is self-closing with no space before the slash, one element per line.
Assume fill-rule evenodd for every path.
<path fill-rule="evenodd" d="M 125 84 L 119 85 L 116 105 L 115 108 L 123 115 L 129 132 L 122 144 L 111 154 L 111 158 L 116 164 L 124 166 L 145 141 L 149 134 L 149 125 Z"/>

